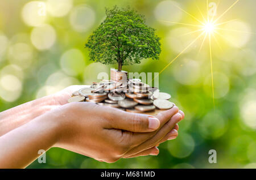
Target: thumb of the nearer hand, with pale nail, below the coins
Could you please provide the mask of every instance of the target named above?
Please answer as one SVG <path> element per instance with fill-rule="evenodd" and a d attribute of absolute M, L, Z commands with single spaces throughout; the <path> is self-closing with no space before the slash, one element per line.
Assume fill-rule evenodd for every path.
<path fill-rule="evenodd" d="M 112 127 L 131 132 L 151 132 L 160 126 L 159 119 L 146 114 L 117 112 L 113 113 Z"/>

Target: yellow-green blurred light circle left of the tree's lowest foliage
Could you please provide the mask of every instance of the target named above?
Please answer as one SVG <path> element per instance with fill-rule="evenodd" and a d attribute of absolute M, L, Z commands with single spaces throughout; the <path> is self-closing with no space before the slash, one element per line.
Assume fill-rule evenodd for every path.
<path fill-rule="evenodd" d="M 84 55 L 79 49 L 69 49 L 61 55 L 60 66 L 68 75 L 81 74 L 85 67 Z"/>

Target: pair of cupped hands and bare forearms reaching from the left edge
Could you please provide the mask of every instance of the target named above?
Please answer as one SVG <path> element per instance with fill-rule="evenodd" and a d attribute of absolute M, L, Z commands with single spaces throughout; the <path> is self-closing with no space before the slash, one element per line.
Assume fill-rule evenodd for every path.
<path fill-rule="evenodd" d="M 0 117 L 6 118 L 7 114 L 13 113 L 16 118 L 11 119 L 13 129 L 9 127 L 8 133 L 0 134 L 0 168 L 24 168 L 39 156 L 39 149 L 51 147 L 65 148 L 105 162 L 158 155 L 156 146 L 176 138 L 177 123 L 184 118 L 184 113 L 176 106 L 152 117 L 90 102 L 67 104 L 71 93 L 82 87 L 74 85 L 55 95 L 32 101 L 39 109 L 42 100 L 51 106 L 38 114 L 31 112 L 33 115 L 24 113 L 28 113 L 29 108 L 23 111 L 25 117 L 38 115 L 34 119 L 19 119 L 16 114 L 20 114 L 20 109 L 26 109 L 23 105 L 0 113 Z M 4 120 L 0 120 L 0 129 Z"/>

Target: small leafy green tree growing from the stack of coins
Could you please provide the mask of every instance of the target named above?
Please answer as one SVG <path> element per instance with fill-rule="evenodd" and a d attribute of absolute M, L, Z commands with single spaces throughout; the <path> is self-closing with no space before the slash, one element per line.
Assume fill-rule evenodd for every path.
<path fill-rule="evenodd" d="M 106 19 L 89 37 L 85 46 L 90 60 L 103 64 L 141 63 L 143 58 L 159 59 L 161 52 L 155 29 L 147 27 L 143 15 L 130 8 L 106 8 Z"/>

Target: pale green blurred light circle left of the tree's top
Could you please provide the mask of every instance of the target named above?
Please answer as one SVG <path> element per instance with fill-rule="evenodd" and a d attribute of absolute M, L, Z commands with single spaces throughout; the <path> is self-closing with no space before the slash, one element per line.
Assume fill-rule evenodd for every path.
<path fill-rule="evenodd" d="M 86 5 L 79 5 L 71 11 L 69 23 L 75 31 L 85 32 L 93 26 L 95 19 L 96 15 L 92 8 Z"/>

